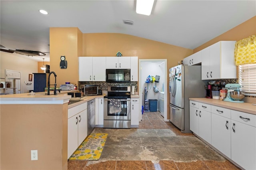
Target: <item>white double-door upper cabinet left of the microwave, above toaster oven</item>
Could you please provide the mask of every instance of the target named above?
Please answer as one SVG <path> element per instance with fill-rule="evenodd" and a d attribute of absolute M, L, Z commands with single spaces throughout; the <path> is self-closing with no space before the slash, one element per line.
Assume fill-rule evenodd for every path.
<path fill-rule="evenodd" d="M 78 81 L 106 81 L 106 57 L 78 57 Z"/>

